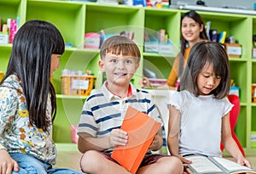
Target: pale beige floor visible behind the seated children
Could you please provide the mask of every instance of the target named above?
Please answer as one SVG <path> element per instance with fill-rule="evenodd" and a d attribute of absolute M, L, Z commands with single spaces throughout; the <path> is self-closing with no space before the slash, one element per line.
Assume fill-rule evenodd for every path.
<path fill-rule="evenodd" d="M 80 171 L 79 160 L 82 154 L 77 150 L 76 144 L 57 144 L 58 154 L 57 161 L 54 167 L 65 167 Z M 256 170 L 256 156 L 247 155 L 249 160 Z"/>

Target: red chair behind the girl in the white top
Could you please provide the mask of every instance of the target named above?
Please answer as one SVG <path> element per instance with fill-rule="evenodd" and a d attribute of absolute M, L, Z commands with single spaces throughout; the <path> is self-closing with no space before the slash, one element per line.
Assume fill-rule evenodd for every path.
<path fill-rule="evenodd" d="M 236 141 L 239 149 L 241 150 L 241 154 L 243 154 L 243 156 L 245 156 L 244 150 L 242 149 L 241 143 L 239 142 L 239 139 L 236 137 L 236 133 L 234 132 L 235 127 L 236 127 L 236 122 L 239 116 L 239 112 L 240 112 L 240 100 L 239 97 L 237 95 L 234 94 L 230 94 L 228 96 L 230 103 L 234 104 L 233 108 L 230 110 L 230 128 L 231 128 L 231 133 L 232 133 L 232 137 L 234 138 L 234 140 Z M 224 145 L 223 143 L 220 143 L 220 149 L 223 151 L 224 150 Z"/>

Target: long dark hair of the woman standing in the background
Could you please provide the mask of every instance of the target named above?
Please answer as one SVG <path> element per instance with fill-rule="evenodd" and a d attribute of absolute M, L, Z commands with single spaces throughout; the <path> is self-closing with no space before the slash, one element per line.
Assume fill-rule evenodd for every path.
<path fill-rule="evenodd" d="M 204 25 L 204 21 L 202 20 L 201 18 L 201 15 L 200 14 L 197 14 L 195 12 L 195 10 L 191 10 L 185 14 L 182 15 L 181 17 L 181 20 L 180 20 L 180 31 L 182 30 L 182 22 L 183 22 L 183 19 L 185 17 L 188 17 L 188 18 L 191 18 L 192 20 L 195 20 L 195 22 L 200 26 L 200 27 L 203 27 L 203 31 L 200 32 L 200 38 L 203 39 L 203 40 L 208 40 L 208 37 L 207 37 L 207 31 L 206 31 L 206 28 L 205 28 L 205 25 Z M 185 49 L 186 49 L 186 46 L 187 46 L 187 41 L 185 40 L 185 38 L 183 37 L 183 35 L 181 34 L 180 36 L 181 38 L 181 48 L 180 48 L 180 54 L 179 54 L 179 66 L 178 66 L 178 75 L 181 76 L 182 73 L 183 73 L 183 63 L 184 63 L 184 52 L 185 52 Z"/>

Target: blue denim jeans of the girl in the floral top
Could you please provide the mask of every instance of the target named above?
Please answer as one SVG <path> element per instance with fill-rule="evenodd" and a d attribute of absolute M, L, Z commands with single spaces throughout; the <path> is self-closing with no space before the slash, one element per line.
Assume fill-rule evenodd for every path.
<path fill-rule="evenodd" d="M 12 174 L 82 174 L 66 168 L 52 168 L 51 165 L 38 160 L 28 154 L 10 153 L 11 157 L 19 164 L 19 171 Z"/>

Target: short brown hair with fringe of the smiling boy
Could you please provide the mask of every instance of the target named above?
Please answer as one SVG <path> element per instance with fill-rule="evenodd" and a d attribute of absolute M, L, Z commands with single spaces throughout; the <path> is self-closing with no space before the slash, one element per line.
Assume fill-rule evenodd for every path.
<path fill-rule="evenodd" d="M 106 53 L 113 53 L 119 55 L 122 53 L 124 56 L 133 56 L 140 62 L 141 53 L 137 44 L 126 36 L 111 36 L 102 43 L 101 46 L 101 59 L 104 59 Z"/>

